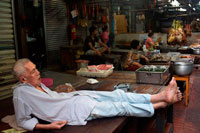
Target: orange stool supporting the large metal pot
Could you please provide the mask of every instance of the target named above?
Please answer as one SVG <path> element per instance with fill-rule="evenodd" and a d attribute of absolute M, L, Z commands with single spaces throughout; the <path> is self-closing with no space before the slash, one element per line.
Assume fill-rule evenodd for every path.
<path fill-rule="evenodd" d="M 185 88 L 185 105 L 188 106 L 189 102 L 189 93 L 190 93 L 190 76 L 178 76 L 178 75 L 173 75 L 173 77 L 177 81 L 185 81 L 186 82 L 186 88 Z"/>

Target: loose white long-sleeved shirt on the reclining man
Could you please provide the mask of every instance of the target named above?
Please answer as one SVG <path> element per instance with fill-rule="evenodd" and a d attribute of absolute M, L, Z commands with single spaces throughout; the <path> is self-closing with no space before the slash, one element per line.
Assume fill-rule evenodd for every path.
<path fill-rule="evenodd" d="M 57 93 L 43 84 L 41 87 L 47 93 L 30 84 L 19 84 L 14 87 L 13 103 L 16 120 L 24 129 L 33 130 L 38 123 L 38 120 L 31 115 L 49 122 L 67 120 L 68 125 L 85 125 L 86 119 L 97 103 L 91 97 L 99 97 L 95 91 Z"/>

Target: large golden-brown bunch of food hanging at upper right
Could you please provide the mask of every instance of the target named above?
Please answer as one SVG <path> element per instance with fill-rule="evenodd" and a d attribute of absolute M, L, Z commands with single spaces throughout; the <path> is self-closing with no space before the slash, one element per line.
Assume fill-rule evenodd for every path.
<path fill-rule="evenodd" d="M 174 20 L 172 28 L 169 30 L 168 43 L 169 44 L 183 44 L 186 41 L 186 35 L 181 25 L 181 21 Z"/>

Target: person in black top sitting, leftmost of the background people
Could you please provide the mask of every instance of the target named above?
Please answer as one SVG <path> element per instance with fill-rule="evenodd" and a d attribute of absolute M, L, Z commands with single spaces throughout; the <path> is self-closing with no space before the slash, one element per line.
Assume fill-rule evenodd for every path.
<path fill-rule="evenodd" d="M 95 26 L 90 27 L 89 32 L 90 36 L 86 38 L 84 44 L 85 54 L 102 56 L 102 54 L 108 50 L 107 45 L 97 37 L 98 31 Z M 98 44 L 100 47 L 98 47 Z"/>

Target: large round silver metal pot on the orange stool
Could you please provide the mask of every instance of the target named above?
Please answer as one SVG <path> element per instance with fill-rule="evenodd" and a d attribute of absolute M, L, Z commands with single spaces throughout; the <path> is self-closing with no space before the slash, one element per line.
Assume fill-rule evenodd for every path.
<path fill-rule="evenodd" d="M 193 70 L 193 62 L 191 61 L 176 61 L 174 62 L 174 72 L 179 76 L 190 75 Z"/>

